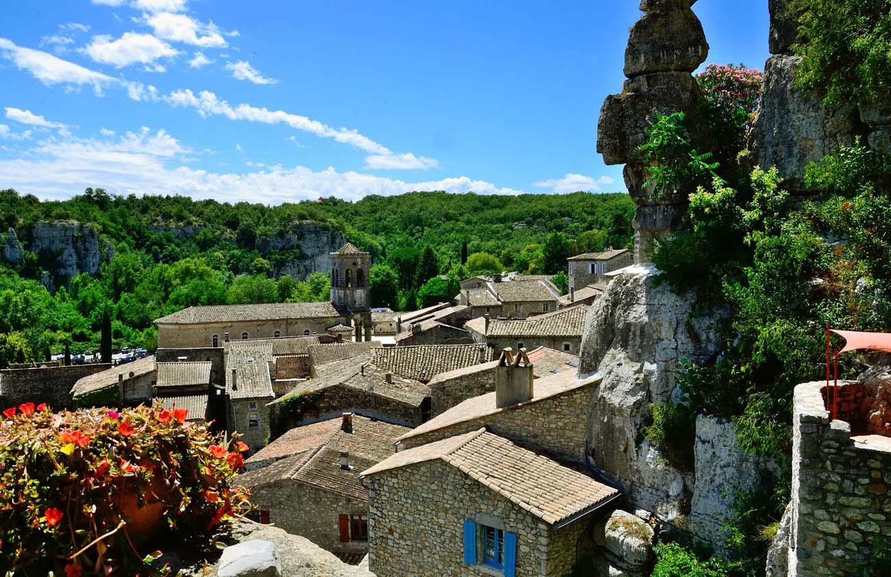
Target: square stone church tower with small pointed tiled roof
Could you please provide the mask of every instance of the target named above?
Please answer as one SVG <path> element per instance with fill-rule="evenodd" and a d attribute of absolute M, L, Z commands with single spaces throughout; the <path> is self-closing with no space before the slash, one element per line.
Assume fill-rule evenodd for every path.
<path fill-rule="evenodd" d="M 331 253 L 331 305 L 353 317 L 356 340 L 372 339 L 371 296 L 368 292 L 368 270 L 371 253 L 359 250 L 347 242 Z"/>

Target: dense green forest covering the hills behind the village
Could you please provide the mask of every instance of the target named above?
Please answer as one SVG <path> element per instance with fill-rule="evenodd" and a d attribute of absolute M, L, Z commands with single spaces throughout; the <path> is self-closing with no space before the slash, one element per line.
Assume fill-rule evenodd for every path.
<path fill-rule="evenodd" d="M 101 188 L 61 201 L 0 191 L 0 226 L 14 228 L 25 249 L 15 266 L 0 263 L 0 367 L 43 360 L 65 345 L 73 353 L 96 351 L 106 312 L 115 348 L 151 350 L 151 321 L 187 306 L 327 300 L 326 274 L 298 281 L 277 273 L 304 256 L 299 242 L 269 248 L 281 244 L 270 240 L 299 237 L 297 223 L 318 223 L 371 252 L 372 305 L 410 310 L 454 297 L 458 282 L 473 274 L 556 274 L 576 252 L 628 246 L 633 215 L 634 203 L 618 193 L 411 192 L 267 207 L 124 197 Z M 29 251 L 42 221 L 88 223 L 114 256 L 103 258 L 95 276 L 53 278 L 51 294 L 39 280 L 58 255 Z M 176 234 L 186 228 L 191 235 Z"/>

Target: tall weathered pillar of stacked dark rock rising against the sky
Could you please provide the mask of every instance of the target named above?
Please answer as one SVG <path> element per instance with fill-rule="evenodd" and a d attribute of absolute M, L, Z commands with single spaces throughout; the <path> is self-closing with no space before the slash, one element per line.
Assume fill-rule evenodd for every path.
<path fill-rule="evenodd" d="M 625 49 L 622 93 L 607 96 L 597 126 L 597 151 L 608 165 L 625 164 L 625 186 L 634 199 L 635 262 L 650 259 L 652 240 L 683 227 L 686 192 L 656 197 L 640 145 L 653 110 L 691 110 L 702 97 L 693 70 L 706 60 L 708 44 L 696 0 L 642 0 Z"/>

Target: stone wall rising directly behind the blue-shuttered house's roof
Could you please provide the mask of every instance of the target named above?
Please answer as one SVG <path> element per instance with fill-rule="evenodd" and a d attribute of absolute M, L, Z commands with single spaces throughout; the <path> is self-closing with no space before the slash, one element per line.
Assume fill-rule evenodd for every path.
<path fill-rule="evenodd" d="M 406 449 L 417 447 L 486 427 L 495 435 L 511 439 L 532 451 L 542 451 L 560 460 L 584 462 L 587 454 L 585 437 L 592 417 L 592 393 L 598 385 L 599 381 L 593 380 L 568 393 L 514 405 L 479 419 L 470 419 L 405 439 L 402 446 Z M 495 409 L 494 399 L 492 409 Z"/>

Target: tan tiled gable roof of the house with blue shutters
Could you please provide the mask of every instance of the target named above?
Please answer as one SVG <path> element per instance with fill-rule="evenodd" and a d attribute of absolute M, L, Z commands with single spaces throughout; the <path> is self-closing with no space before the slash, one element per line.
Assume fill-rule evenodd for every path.
<path fill-rule="evenodd" d="M 397 452 L 363 472 L 375 475 L 442 459 L 547 524 L 570 521 L 619 492 L 486 429 Z"/>

